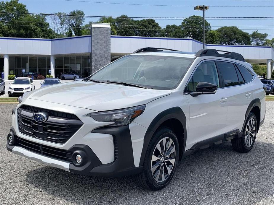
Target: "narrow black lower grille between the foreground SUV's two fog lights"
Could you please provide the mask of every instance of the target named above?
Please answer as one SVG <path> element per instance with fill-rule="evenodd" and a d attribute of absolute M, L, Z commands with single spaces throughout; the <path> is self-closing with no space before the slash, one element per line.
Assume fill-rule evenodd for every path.
<path fill-rule="evenodd" d="M 49 157 L 71 162 L 71 156 L 73 152 L 70 152 L 65 149 L 57 149 L 54 147 L 45 146 L 36 142 L 28 141 L 26 139 L 23 139 L 17 136 L 16 136 L 15 146 L 16 145 L 19 145 L 20 147 L 28 149 L 32 152 L 36 152 L 38 154 L 42 154 Z"/>

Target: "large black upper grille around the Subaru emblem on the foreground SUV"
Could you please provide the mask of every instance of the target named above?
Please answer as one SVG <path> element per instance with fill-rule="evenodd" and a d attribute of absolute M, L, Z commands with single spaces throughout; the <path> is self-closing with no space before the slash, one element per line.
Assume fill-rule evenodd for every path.
<path fill-rule="evenodd" d="M 38 112 L 47 113 L 48 120 L 43 123 L 36 122 L 33 114 Z M 83 125 L 76 115 L 28 105 L 18 108 L 17 119 L 20 133 L 58 144 L 68 141 Z"/>

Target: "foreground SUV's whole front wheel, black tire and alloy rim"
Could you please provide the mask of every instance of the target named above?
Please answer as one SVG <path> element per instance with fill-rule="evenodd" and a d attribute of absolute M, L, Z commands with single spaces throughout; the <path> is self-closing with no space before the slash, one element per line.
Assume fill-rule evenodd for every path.
<path fill-rule="evenodd" d="M 142 173 L 134 176 L 142 188 L 158 191 L 172 180 L 179 159 L 179 143 L 169 128 L 158 129 L 148 144 Z"/>

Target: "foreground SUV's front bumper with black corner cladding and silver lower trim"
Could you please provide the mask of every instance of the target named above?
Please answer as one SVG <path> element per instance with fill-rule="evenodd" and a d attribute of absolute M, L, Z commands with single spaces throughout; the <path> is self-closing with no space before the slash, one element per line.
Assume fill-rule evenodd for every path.
<path fill-rule="evenodd" d="M 16 112 L 17 110 L 13 110 L 12 112 L 13 113 L 12 125 L 15 127 L 17 126 L 17 123 L 15 122 Z M 113 161 L 108 163 L 106 163 L 107 161 L 105 161 L 104 157 L 102 156 L 99 156 L 101 158 L 100 160 L 99 157 L 95 154 L 95 152 L 86 144 L 75 144 L 71 146 L 69 149 L 49 147 L 48 143 L 47 145 L 41 144 L 41 143 L 44 143 L 41 140 L 39 143 L 37 143 L 34 141 L 36 140 L 35 138 L 32 138 L 33 140 L 30 140 L 31 138 L 29 137 L 28 139 L 25 137 L 23 138 L 22 134 L 19 131 L 16 131 L 16 128 L 13 126 L 10 129 L 10 132 L 15 136 L 15 144 L 10 146 L 7 143 L 7 150 L 15 154 L 19 154 L 23 157 L 29 158 L 31 160 L 35 160 L 37 162 L 41 162 L 46 165 L 57 167 L 73 173 L 78 173 L 83 175 L 103 176 L 103 177 L 120 177 L 125 175 L 137 174 L 142 171 L 142 166 L 139 166 L 139 167 L 134 166 L 134 159 L 133 159 L 134 157 L 133 157 L 132 141 L 131 141 L 129 126 L 96 128 L 90 132 L 90 134 L 93 134 L 93 135 L 113 137 L 114 159 Z M 73 137 L 76 137 L 76 136 L 73 136 Z M 30 146 L 22 145 L 22 143 L 19 143 L 20 140 L 27 141 L 29 144 L 31 144 L 30 146 L 32 148 L 30 148 Z M 104 139 L 102 138 L 101 140 L 104 143 Z M 50 144 L 55 144 L 55 143 L 50 143 Z M 40 146 L 40 147 L 37 148 L 35 146 Z M 102 143 L 101 143 L 101 146 L 103 146 Z M 83 158 L 83 160 L 85 160 L 84 161 L 85 163 L 81 166 L 76 166 L 72 162 L 72 160 L 69 161 L 69 160 L 57 159 L 55 155 L 53 154 L 49 155 L 46 153 L 47 155 L 45 155 L 44 149 L 54 149 L 54 150 L 58 149 L 64 152 L 68 151 L 70 153 L 79 152 L 80 150 L 82 153 L 84 153 L 84 156 L 86 156 Z M 99 149 L 103 150 L 104 147 L 99 147 Z M 39 150 L 41 150 L 41 153 Z"/>

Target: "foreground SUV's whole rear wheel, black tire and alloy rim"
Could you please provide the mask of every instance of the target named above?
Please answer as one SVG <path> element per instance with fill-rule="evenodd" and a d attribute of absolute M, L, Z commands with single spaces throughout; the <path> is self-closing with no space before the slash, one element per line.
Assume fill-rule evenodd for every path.
<path fill-rule="evenodd" d="M 242 137 L 231 140 L 232 148 L 236 152 L 249 152 L 254 146 L 257 130 L 258 128 L 256 115 L 254 113 L 249 113 L 243 129 Z"/>

